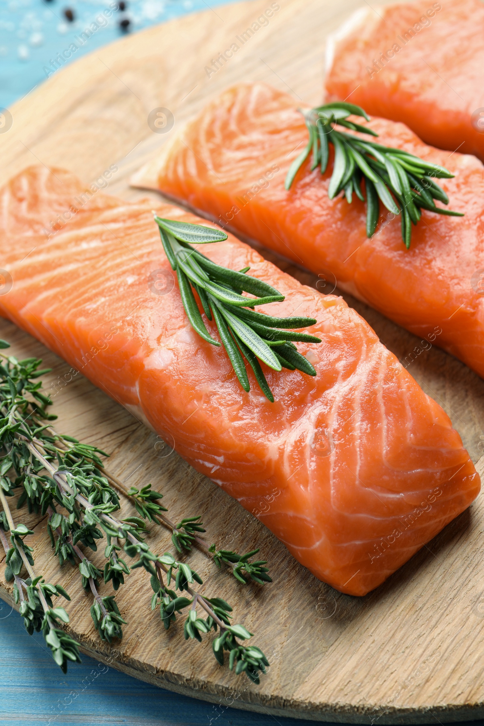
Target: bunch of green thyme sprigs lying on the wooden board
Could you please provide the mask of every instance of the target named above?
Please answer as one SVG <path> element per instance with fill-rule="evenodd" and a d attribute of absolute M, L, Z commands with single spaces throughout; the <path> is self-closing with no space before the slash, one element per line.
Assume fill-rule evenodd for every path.
<path fill-rule="evenodd" d="M 8 345 L 0 340 L 0 348 Z M 124 583 L 124 576 L 132 569 L 144 568 L 152 578 L 157 578 L 160 585 L 154 591 L 157 600 L 160 600 L 160 614 L 165 627 L 167 617 L 169 626 L 176 620 L 177 613 L 190 606 L 184 622 L 185 637 L 201 640 L 202 633 L 220 628 L 220 635 L 213 641 L 217 661 L 223 664 L 223 650 L 229 650 L 229 667 L 235 668 L 237 673 L 246 672 L 251 680 L 259 682 L 259 673 L 265 672 L 268 661 L 259 648 L 239 643 L 252 634 L 242 625 L 230 624 L 227 614 L 231 612 L 230 605 L 221 598 L 210 599 L 194 590 L 192 584 L 202 584 L 200 575 L 169 552 L 155 555 L 144 542 L 144 535 L 149 534 L 147 522 L 164 524 L 172 530 L 172 541 L 179 545 L 179 551 L 181 548 L 191 550 L 194 543 L 202 544 L 202 549 L 218 566 L 221 562 L 231 564 L 239 582 L 246 582 L 240 576 L 242 571 L 247 574 L 252 572 L 250 576 L 256 582 L 270 581 L 268 576 L 257 577 L 258 573 L 266 572 L 266 568 L 260 567 L 265 562 L 250 563 L 250 556 L 258 550 L 242 556 L 225 550 L 215 552 L 215 546 L 208 548 L 198 537 L 197 533 L 205 531 L 200 516 L 184 518 L 175 524 L 163 515 L 167 511 L 159 503 L 163 495 L 152 491 L 151 485 L 126 489 L 118 478 L 102 467 L 99 454 L 107 454 L 101 449 L 81 444 L 70 436 L 61 436 L 54 431 L 51 423 L 44 424 L 44 421 L 50 422 L 55 417 L 46 412 L 51 401 L 41 393 L 41 383 L 33 383 L 41 361 L 17 361 L 13 356 L 3 354 L 0 357 L 3 359 L 0 364 L 0 413 L 3 417 L 0 419 L 0 446 L 7 451 L 0 464 L 0 502 L 3 506 L 0 539 L 7 555 L 5 575 L 7 580 L 15 581 L 15 599 L 20 602 L 28 632 L 43 630 L 46 643 L 62 669 L 66 669 L 68 660 L 79 659 L 77 644 L 60 627 L 68 622 L 67 613 L 52 606 L 52 596 L 62 595 L 67 600 L 69 596 L 60 585 L 46 584 L 44 579 L 36 576 L 33 549 L 23 539 L 32 535 L 33 531 L 22 524 L 17 527 L 13 524 L 6 497 L 13 496 L 17 487 L 22 488 L 20 505 L 17 506 L 26 501 L 30 511 L 48 515 L 47 530 L 60 564 L 66 560 L 73 566 L 79 563 L 83 587 L 91 590 L 94 598 L 91 618 L 102 640 L 111 643 L 114 638 L 121 638 L 121 626 L 126 621 L 120 614 L 114 595 L 99 595 L 102 572 L 83 554 L 78 544 L 95 552 L 97 541 L 106 537 L 104 583 L 112 582 L 113 589 L 118 590 Z M 12 471 L 15 476 L 12 476 Z M 131 499 L 140 516 L 123 520 L 115 516 L 120 508 L 118 492 Z M 12 547 L 9 547 L 4 534 L 8 530 Z M 121 550 L 136 558 L 131 568 L 120 557 Z M 28 571 L 28 579 L 20 576 L 24 567 Z M 174 580 L 174 590 L 169 589 L 171 579 Z M 191 597 L 177 595 L 176 590 L 186 591 Z M 197 604 L 207 613 L 205 620 L 197 616 Z"/>

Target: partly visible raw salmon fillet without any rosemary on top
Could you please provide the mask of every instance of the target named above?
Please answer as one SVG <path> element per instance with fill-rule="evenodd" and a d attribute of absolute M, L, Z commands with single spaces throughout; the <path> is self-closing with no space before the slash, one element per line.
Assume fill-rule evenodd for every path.
<path fill-rule="evenodd" d="M 327 44 L 327 100 L 403 121 L 427 144 L 484 160 L 484 5 L 358 10 Z"/>

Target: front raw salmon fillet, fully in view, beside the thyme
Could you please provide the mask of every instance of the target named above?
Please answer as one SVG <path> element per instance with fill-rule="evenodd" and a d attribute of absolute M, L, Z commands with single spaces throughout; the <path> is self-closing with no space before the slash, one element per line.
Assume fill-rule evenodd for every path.
<path fill-rule="evenodd" d="M 86 196 L 44 166 L 1 190 L 0 253 L 13 280 L 1 314 L 173 437 L 316 577 L 364 595 L 475 499 L 479 476 L 448 416 L 341 298 L 300 285 L 234 237 L 204 246 L 286 295 L 266 311 L 318 321 L 309 330 L 323 342 L 298 343 L 316 378 L 263 366 L 271 404 L 251 370 L 245 393 L 225 351 L 190 327 L 152 203 Z M 171 205 L 156 211 L 200 221 Z M 173 289 L 152 290 L 160 270 Z"/>

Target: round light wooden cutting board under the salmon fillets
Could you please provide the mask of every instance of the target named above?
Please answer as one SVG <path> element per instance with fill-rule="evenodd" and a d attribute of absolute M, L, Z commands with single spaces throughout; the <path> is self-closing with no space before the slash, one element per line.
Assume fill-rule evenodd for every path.
<path fill-rule="evenodd" d="M 149 196 L 128 187 L 132 171 L 224 86 L 262 80 L 305 102 L 319 102 L 325 38 L 362 4 L 242 2 L 173 20 L 97 50 L 12 107 L 12 128 L 0 134 L 1 179 L 42 163 L 68 168 L 91 182 L 116 164 L 110 192 L 126 200 Z M 258 22 L 268 8 L 274 11 L 270 20 Z M 253 28 L 252 35 L 247 28 Z M 237 36 L 247 39 L 210 73 L 213 60 Z M 160 107 L 174 119 L 172 131 L 165 134 L 153 133 L 147 123 L 149 113 Z M 316 285 L 312 274 L 265 254 L 301 282 Z M 344 297 L 401 360 L 418 346 L 410 333 Z M 228 706 L 369 724 L 483 717 L 482 498 L 382 587 L 361 598 L 341 595 L 309 574 L 216 484 L 189 468 L 171 451 L 171 442 L 163 446 L 81 375 L 60 385 L 67 364 L 15 326 L 1 322 L 0 335 L 14 343 L 14 354 L 41 356 L 52 366 L 47 388 L 55 393 L 60 431 L 112 452 L 109 468 L 128 484 L 151 481 L 164 492 L 173 519 L 202 514 L 208 542 L 239 551 L 259 546 L 271 564 L 274 583 L 239 587 L 202 555 L 191 560 L 202 574 L 204 592 L 226 597 L 236 621 L 255 633 L 254 642 L 268 654 L 268 675 L 254 686 L 219 667 L 208 643 L 186 643 L 179 627 L 165 633 L 157 612 L 149 610 L 149 582 L 139 570 L 118 596 L 128 620 L 123 640 L 112 647 L 101 643 L 89 616 L 91 597 L 81 590 L 77 571 L 70 566 L 60 571 L 46 547 L 45 521 L 22 510 L 17 517 L 36 532 L 30 539 L 37 571 L 48 581 L 65 584 L 73 597 L 67 610 L 84 652 L 141 680 L 218 704 L 210 724 Z M 484 448 L 483 380 L 435 348 L 416 356 L 409 370 L 446 409 L 477 462 Z M 482 461 L 478 467 L 482 471 Z M 130 505 L 125 511 L 131 511 Z M 161 529 L 150 542 L 155 551 L 171 547 L 168 532 Z M 94 560 L 102 558 L 94 555 Z M 110 587 L 103 590 L 110 592 Z M 11 592 L 11 585 L 0 579 L 1 597 L 9 601 Z"/>

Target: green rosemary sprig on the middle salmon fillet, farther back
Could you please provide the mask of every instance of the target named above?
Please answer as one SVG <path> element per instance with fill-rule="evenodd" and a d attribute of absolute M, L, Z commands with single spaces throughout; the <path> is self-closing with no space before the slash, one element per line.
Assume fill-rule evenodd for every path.
<path fill-rule="evenodd" d="M 372 237 L 377 227 L 380 216 L 379 199 L 388 211 L 393 214 L 401 213 L 401 234 L 407 249 L 411 242 L 411 225 L 418 223 L 421 209 L 436 214 L 464 216 L 462 212 L 443 209 L 435 204 L 434 200 L 448 204 L 446 192 L 434 181 L 451 179 L 454 174 L 448 169 L 424 161 L 402 149 L 382 146 L 335 128 L 343 126 L 350 131 L 378 136 L 368 126 L 348 121 L 350 115 L 370 120 L 361 107 L 352 103 L 334 102 L 301 113 L 309 132 L 309 140 L 287 172 L 286 189 L 290 189 L 296 174 L 311 152 L 311 171 L 320 165 L 321 174 L 324 174 L 329 160 L 329 144 L 332 144 L 335 148 L 335 164 L 329 181 L 329 198 L 334 199 L 343 192 L 348 203 L 351 203 L 354 192 L 363 202 L 361 181 L 364 179 L 367 237 Z"/>

